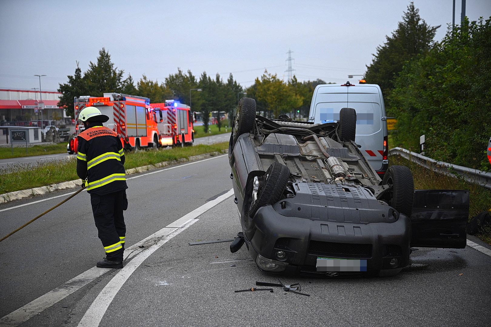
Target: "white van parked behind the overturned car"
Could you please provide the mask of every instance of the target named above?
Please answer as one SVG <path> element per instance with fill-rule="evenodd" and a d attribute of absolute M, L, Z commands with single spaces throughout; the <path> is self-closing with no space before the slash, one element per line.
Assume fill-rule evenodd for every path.
<path fill-rule="evenodd" d="M 377 84 L 317 85 L 310 104 L 309 122 L 339 120 L 341 108 L 356 110 L 356 144 L 381 178 L 388 168 L 387 117 L 382 91 Z"/>

